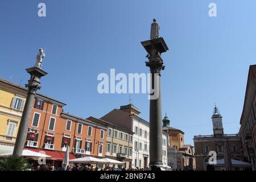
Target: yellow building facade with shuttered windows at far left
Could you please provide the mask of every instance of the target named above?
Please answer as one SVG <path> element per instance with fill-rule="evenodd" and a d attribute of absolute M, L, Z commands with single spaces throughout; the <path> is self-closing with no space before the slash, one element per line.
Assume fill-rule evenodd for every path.
<path fill-rule="evenodd" d="M 27 90 L 0 78 L 0 154 L 12 151 Z"/>

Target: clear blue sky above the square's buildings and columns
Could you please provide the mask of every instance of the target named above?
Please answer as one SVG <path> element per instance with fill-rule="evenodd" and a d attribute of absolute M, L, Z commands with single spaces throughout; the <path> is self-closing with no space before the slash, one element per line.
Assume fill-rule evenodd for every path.
<path fill-rule="evenodd" d="M 38 3 L 47 17 L 38 17 Z M 210 2 L 217 17 L 208 16 Z M 0 77 L 27 82 L 25 69 L 35 64 L 38 48 L 46 49 L 41 93 L 67 104 L 65 111 L 81 117 L 102 117 L 129 102 L 129 94 L 98 94 L 97 75 L 148 73 L 141 41 L 150 24 L 170 51 L 163 54 L 163 115 L 171 126 L 193 135 L 212 134 L 216 102 L 225 133 L 237 133 L 249 65 L 256 60 L 256 1 L 14 1 L 0 4 Z M 148 120 L 147 94 L 132 102 Z"/>

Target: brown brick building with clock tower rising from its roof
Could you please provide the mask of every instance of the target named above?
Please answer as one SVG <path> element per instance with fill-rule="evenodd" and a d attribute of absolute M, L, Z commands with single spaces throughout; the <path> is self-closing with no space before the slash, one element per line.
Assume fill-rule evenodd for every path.
<path fill-rule="evenodd" d="M 213 134 L 194 136 L 196 169 L 206 170 L 209 152 L 215 151 L 218 159 L 225 159 L 225 152 L 229 159 L 243 161 L 241 138 L 238 134 L 224 134 L 222 116 L 215 106 L 212 115 Z M 225 150 L 226 149 L 226 150 Z M 218 168 L 219 170 L 225 167 Z M 234 168 L 233 168 L 234 169 Z"/>

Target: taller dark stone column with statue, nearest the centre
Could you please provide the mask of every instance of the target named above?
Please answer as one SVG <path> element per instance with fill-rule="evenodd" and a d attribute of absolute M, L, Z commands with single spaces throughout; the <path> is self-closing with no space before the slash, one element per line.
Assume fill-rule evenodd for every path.
<path fill-rule="evenodd" d="M 159 25 L 155 19 L 151 24 L 150 38 L 141 43 L 148 53 L 146 66 L 150 68 L 151 89 L 154 91 L 150 93 L 150 167 L 155 169 L 163 165 L 161 70 L 164 65 L 161 53 L 168 50 L 164 39 L 159 38 Z"/>

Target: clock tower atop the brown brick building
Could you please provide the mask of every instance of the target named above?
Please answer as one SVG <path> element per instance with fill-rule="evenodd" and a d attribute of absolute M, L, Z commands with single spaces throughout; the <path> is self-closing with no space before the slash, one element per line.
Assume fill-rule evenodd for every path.
<path fill-rule="evenodd" d="M 222 137 L 224 134 L 222 126 L 222 116 L 220 115 L 220 111 L 218 111 L 218 108 L 216 106 L 213 110 L 212 125 L 214 137 Z"/>

